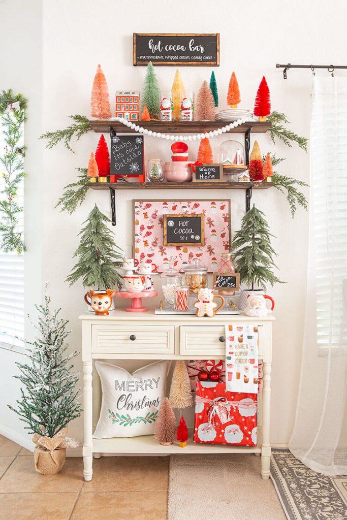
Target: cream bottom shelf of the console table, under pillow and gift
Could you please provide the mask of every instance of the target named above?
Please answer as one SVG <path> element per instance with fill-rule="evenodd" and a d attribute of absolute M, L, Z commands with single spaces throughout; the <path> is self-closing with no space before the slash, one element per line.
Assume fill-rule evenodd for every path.
<path fill-rule="evenodd" d="M 197 453 L 261 453 L 261 432 L 258 428 L 258 445 L 230 446 L 223 444 L 203 444 L 193 442 L 193 431 L 189 428 L 189 439 L 185 448 L 180 448 L 177 441 L 171 446 L 161 446 L 153 435 L 140 437 L 117 437 L 112 439 L 93 439 L 93 453 L 121 454 L 197 454 Z"/>

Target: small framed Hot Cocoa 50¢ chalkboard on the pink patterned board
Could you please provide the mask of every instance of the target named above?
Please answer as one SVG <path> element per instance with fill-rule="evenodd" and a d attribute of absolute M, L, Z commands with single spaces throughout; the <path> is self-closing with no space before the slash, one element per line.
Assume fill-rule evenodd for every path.
<path fill-rule="evenodd" d="M 164 245 L 204 245 L 203 213 L 164 215 Z"/>

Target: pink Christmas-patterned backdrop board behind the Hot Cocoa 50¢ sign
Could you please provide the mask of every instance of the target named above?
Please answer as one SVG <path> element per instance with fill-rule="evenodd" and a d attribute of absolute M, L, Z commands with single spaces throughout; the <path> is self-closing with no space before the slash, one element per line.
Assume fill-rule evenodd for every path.
<path fill-rule="evenodd" d="M 158 266 L 162 272 L 172 256 L 181 270 L 199 258 L 209 272 L 217 270 L 221 254 L 229 251 L 230 200 L 134 200 L 134 257 L 140 264 Z M 205 244 L 164 246 L 164 214 L 205 215 Z"/>

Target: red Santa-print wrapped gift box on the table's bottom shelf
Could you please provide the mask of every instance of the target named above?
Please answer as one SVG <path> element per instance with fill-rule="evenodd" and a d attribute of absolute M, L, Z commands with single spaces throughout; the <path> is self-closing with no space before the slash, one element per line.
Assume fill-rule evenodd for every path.
<path fill-rule="evenodd" d="M 196 384 L 194 441 L 256 446 L 256 394 L 227 392 L 225 383 Z"/>

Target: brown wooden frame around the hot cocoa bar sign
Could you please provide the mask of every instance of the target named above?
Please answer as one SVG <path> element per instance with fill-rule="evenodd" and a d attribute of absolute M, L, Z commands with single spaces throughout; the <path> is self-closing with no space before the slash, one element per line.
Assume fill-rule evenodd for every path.
<path fill-rule="evenodd" d="M 176 37 L 186 37 L 186 38 L 194 38 L 194 37 L 199 37 L 199 38 L 203 38 L 204 36 L 205 37 L 215 37 L 215 59 L 212 59 L 211 61 L 207 60 L 207 61 L 198 61 L 198 60 L 193 60 L 193 61 L 188 61 L 188 60 L 168 60 L 168 59 L 163 59 L 161 61 L 157 61 L 155 58 L 152 57 L 152 59 L 148 59 L 148 60 L 138 60 L 137 59 L 137 55 L 136 55 L 136 52 L 137 52 L 137 41 L 136 41 L 136 37 L 137 36 L 153 36 L 153 37 L 162 37 L 162 38 L 168 38 L 168 37 L 171 37 L 171 38 L 174 38 L 175 36 Z M 169 52 L 169 50 L 167 50 L 166 52 Z M 179 53 L 179 50 L 172 50 L 171 51 L 172 53 Z M 152 61 L 153 65 L 154 66 L 159 66 L 159 67 L 177 67 L 177 66 L 181 66 L 181 67 L 219 67 L 220 65 L 220 33 L 202 33 L 202 34 L 190 34 L 190 33 L 133 33 L 133 66 L 134 67 L 146 67 L 149 63 L 149 61 Z"/>

